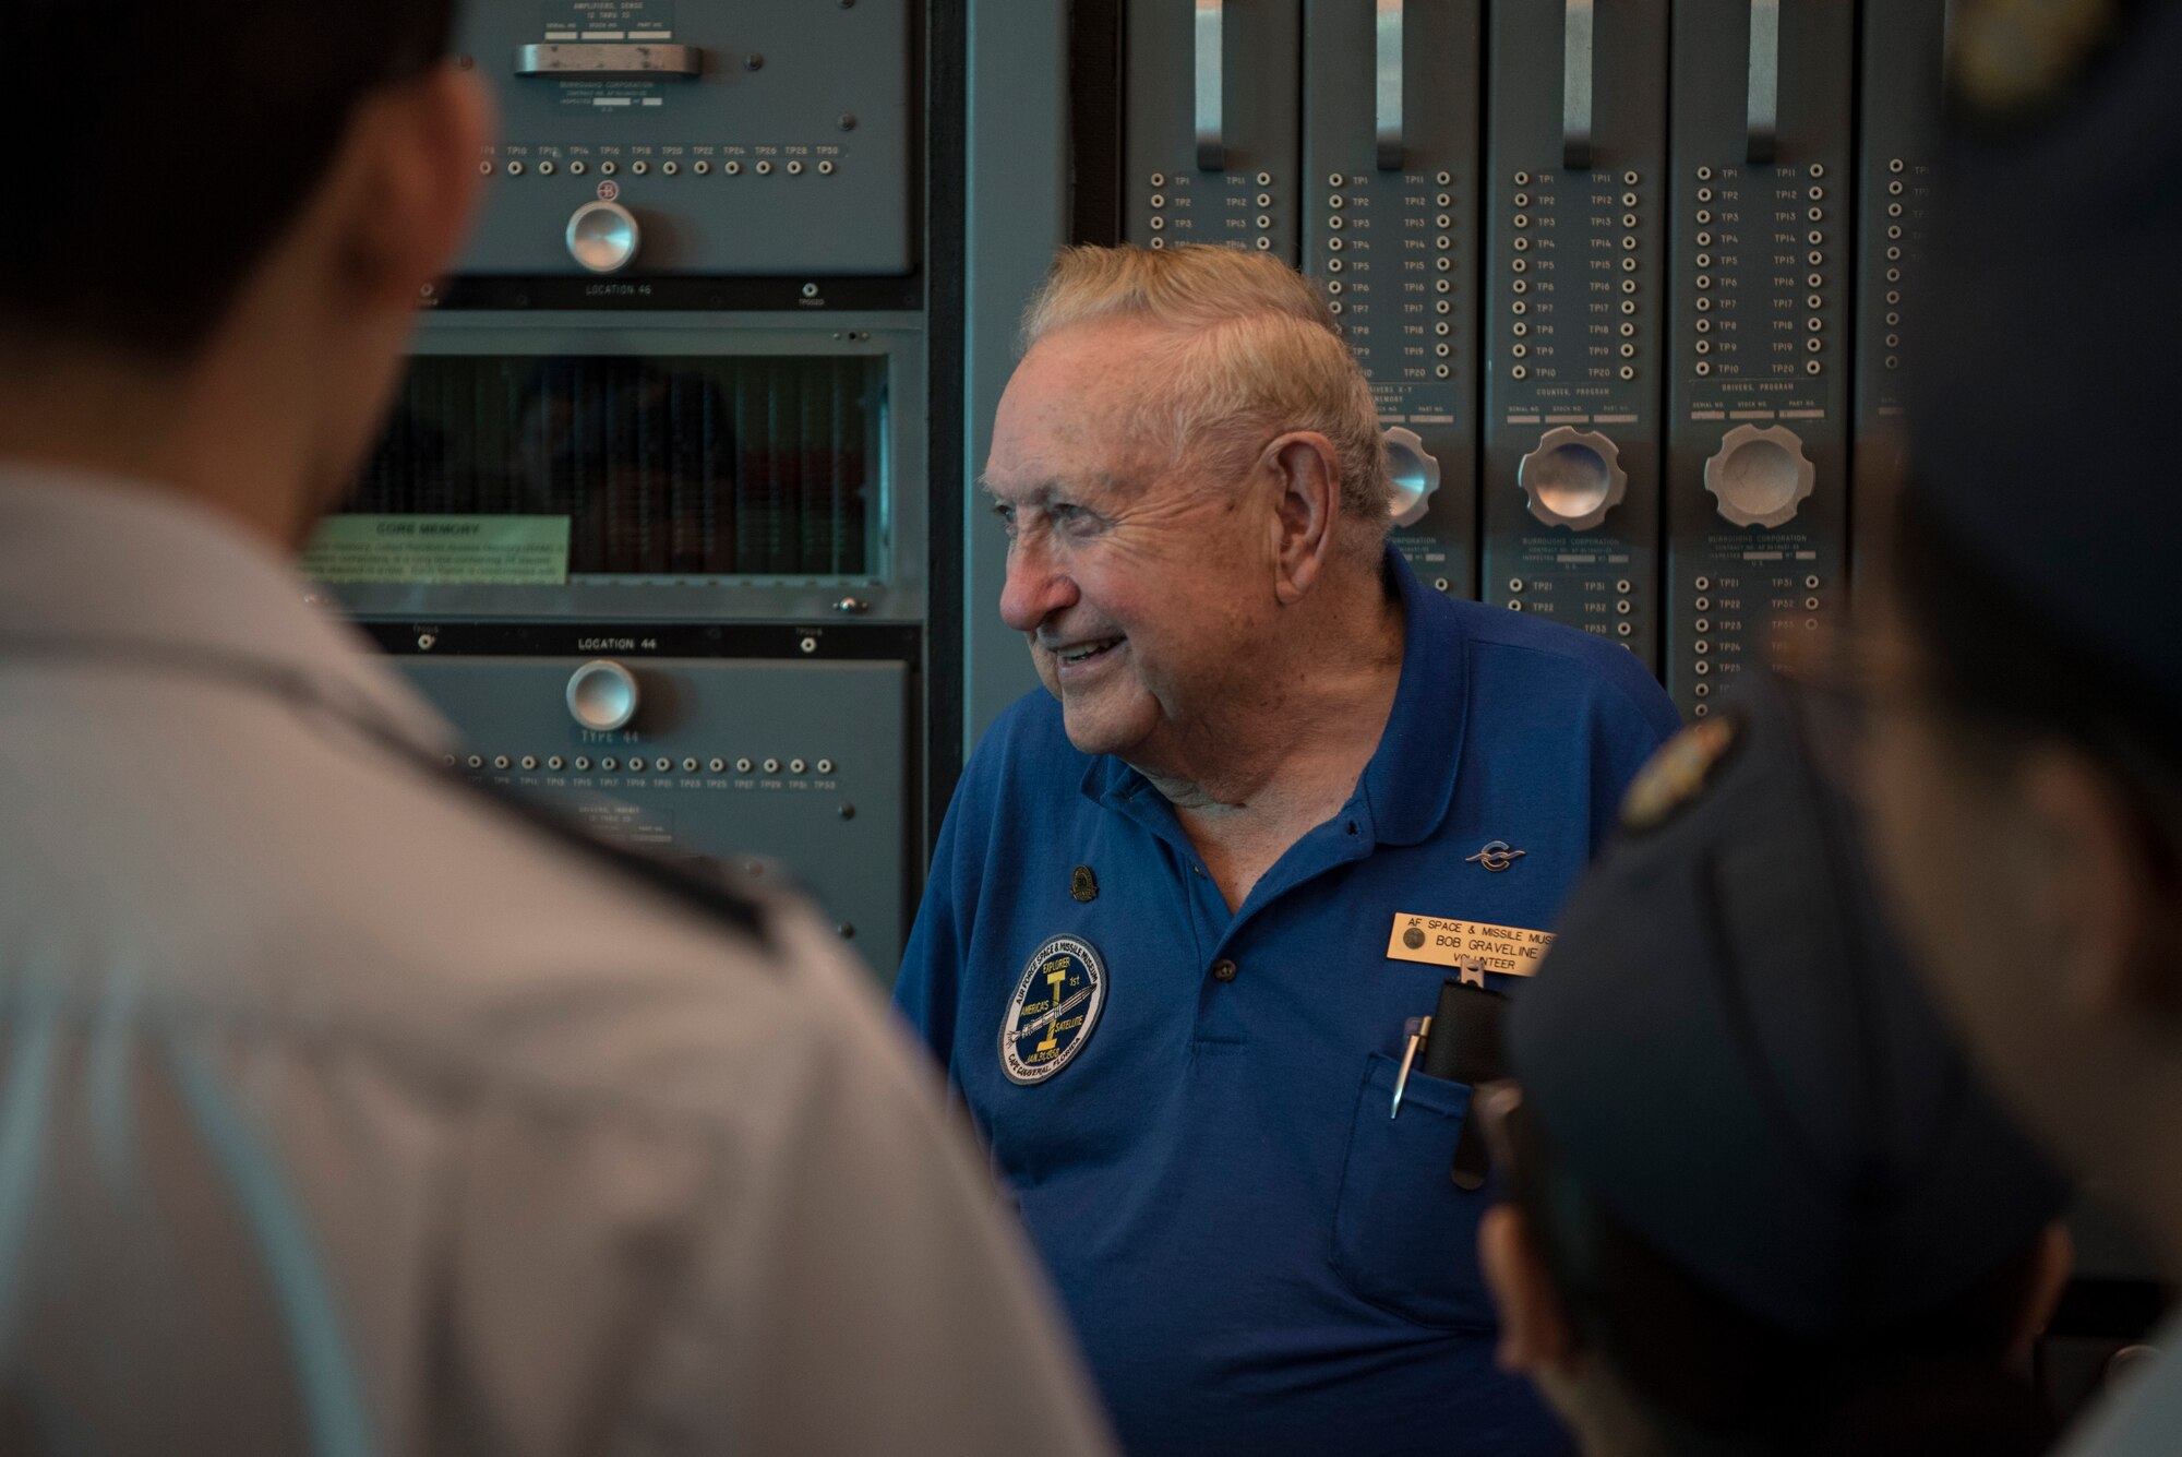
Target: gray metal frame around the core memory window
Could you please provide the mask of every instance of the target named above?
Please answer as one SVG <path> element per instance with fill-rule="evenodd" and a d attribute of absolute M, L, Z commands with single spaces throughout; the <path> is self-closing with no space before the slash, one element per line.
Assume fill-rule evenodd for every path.
<path fill-rule="evenodd" d="M 925 615 L 925 338 L 921 314 L 829 314 L 825 327 L 779 314 L 428 314 L 415 353 L 508 356 L 842 356 L 888 358 L 882 451 L 879 576 L 598 578 L 567 587 L 345 585 L 364 617 L 585 617 L 919 622 Z M 855 600 L 862 611 L 842 613 Z"/>

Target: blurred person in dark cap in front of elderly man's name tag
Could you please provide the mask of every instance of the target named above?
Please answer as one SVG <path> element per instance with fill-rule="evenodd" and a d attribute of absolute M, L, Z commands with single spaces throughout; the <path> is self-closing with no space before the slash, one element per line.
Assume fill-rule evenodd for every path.
<path fill-rule="evenodd" d="M 1669 744 L 1510 1012 L 1514 1082 L 1479 1093 L 1501 1357 L 1586 1457 L 2051 1435 L 2014 1370 L 2069 1274 L 2066 1184 L 1877 910 L 1818 748 L 1848 733 L 1759 681 Z"/>

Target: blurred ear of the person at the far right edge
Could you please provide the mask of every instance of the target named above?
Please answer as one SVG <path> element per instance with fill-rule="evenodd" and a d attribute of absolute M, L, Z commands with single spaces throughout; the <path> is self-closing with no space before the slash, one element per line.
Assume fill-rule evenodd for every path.
<path fill-rule="evenodd" d="M 2171 1023 L 2182 1016 L 2178 912 L 2167 872 L 2121 787 L 2082 750 L 2031 748 L 2021 763 L 2023 809 L 2049 844 L 2040 920 L 2064 947 L 2069 995 L 2099 1014 Z"/>

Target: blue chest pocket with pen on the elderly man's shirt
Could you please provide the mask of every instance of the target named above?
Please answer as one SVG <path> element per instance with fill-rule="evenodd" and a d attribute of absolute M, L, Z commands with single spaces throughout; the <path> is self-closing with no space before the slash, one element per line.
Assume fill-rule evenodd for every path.
<path fill-rule="evenodd" d="M 1449 1178 L 1471 1088 L 1412 1069 L 1401 1117 L 1388 1119 L 1399 1071 L 1386 1053 L 1364 1067 L 1333 1208 L 1333 1269 L 1359 1300 L 1401 1320 L 1490 1330 L 1497 1320 L 1477 1272 L 1477 1221 L 1492 1195 Z"/>

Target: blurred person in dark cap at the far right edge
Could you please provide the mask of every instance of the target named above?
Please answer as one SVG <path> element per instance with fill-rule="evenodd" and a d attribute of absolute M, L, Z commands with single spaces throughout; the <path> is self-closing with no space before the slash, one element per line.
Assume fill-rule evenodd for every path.
<path fill-rule="evenodd" d="M 1870 633 L 1870 816 L 1944 1008 L 2182 1272 L 2182 7 L 1975 0 Z M 2182 1326 L 2071 1450 L 2182 1450 Z"/>

